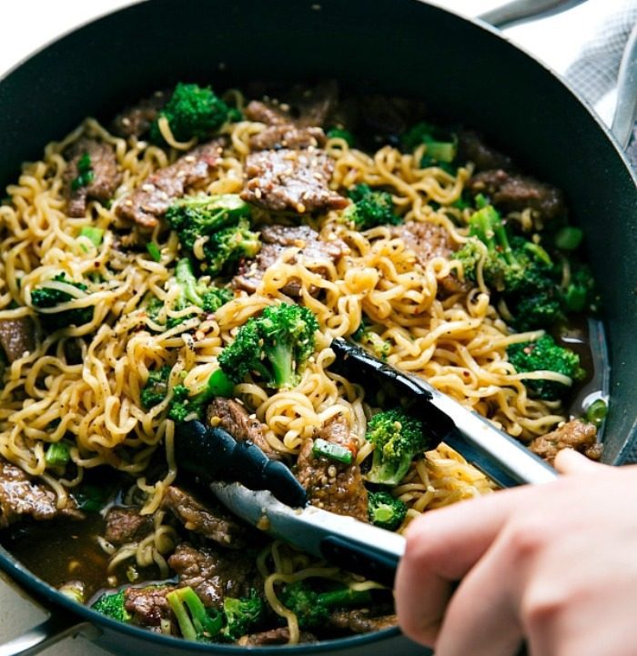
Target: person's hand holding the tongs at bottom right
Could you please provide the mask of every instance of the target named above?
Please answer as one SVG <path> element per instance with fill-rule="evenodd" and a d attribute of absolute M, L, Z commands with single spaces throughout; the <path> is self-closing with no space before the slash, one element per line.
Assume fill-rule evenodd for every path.
<path fill-rule="evenodd" d="M 554 483 L 414 520 L 396 577 L 402 630 L 436 656 L 637 654 L 637 466 L 565 449 Z M 457 582 L 460 584 L 457 585 Z"/>

